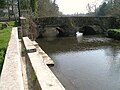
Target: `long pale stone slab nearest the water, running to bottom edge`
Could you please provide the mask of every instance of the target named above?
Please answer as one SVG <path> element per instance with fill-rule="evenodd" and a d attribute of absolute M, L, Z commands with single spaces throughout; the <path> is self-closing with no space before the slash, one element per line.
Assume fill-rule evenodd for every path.
<path fill-rule="evenodd" d="M 28 53 L 28 57 L 42 90 L 65 90 L 38 52 Z"/>

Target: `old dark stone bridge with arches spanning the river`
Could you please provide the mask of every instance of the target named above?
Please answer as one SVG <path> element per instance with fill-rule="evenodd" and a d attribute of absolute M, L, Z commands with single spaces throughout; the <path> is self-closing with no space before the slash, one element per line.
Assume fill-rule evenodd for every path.
<path fill-rule="evenodd" d="M 76 31 L 83 34 L 104 33 L 116 27 L 115 17 L 43 17 L 35 19 L 40 35 L 46 27 L 54 27 L 61 36 L 74 36 Z"/>

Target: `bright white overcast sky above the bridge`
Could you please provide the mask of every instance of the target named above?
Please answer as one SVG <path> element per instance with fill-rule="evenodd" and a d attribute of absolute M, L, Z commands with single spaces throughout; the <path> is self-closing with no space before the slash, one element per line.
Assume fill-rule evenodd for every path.
<path fill-rule="evenodd" d="M 97 6 L 101 4 L 103 0 L 56 0 L 56 4 L 59 6 L 59 11 L 63 14 L 75 14 L 75 13 L 87 13 L 87 5 L 97 2 Z"/>

